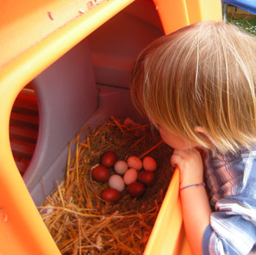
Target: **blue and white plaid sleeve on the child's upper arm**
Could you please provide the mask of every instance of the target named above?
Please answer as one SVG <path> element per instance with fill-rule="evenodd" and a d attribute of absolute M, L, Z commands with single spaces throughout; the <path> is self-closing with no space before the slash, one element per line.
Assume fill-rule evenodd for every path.
<path fill-rule="evenodd" d="M 248 255 L 256 242 L 255 199 L 230 196 L 216 208 L 202 240 L 203 255 Z"/>

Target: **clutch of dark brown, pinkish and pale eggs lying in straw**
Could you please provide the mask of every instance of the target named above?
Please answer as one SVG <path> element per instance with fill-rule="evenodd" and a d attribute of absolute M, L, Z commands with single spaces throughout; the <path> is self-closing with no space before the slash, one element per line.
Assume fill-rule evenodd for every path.
<path fill-rule="evenodd" d="M 116 174 L 111 175 L 109 168 L 113 168 Z M 117 153 L 109 150 L 100 157 L 100 164 L 92 167 L 91 174 L 92 179 L 97 182 L 108 182 L 109 188 L 101 193 L 101 198 L 108 202 L 118 202 L 125 185 L 126 192 L 131 197 L 142 196 L 146 191 L 145 186 L 155 182 L 156 168 L 156 160 L 151 157 L 141 160 L 131 156 L 126 161 L 117 160 Z"/>

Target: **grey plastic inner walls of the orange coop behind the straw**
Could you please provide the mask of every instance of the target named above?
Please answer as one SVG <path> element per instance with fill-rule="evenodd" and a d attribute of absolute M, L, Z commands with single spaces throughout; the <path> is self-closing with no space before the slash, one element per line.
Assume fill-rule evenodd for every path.
<path fill-rule="evenodd" d="M 34 78 L 40 127 L 23 180 L 37 206 L 64 176 L 68 143 L 81 128 L 110 115 L 147 121 L 131 103 L 129 75 L 139 51 L 163 34 L 153 4 L 135 1 Z"/>

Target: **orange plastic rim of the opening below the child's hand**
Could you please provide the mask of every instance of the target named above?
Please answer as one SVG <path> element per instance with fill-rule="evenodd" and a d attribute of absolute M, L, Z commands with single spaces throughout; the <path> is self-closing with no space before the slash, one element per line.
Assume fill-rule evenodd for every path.
<path fill-rule="evenodd" d="M 144 255 L 191 254 L 182 227 L 182 212 L 179 196 L 180 176 L 175 169 L 169 188 L 161 204 Z"/>

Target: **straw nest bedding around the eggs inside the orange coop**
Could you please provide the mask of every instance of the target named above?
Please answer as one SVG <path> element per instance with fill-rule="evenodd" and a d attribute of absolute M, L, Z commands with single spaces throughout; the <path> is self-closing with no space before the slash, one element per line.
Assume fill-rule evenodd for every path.
<path fill-rule="evenodd" d="M 85 141 L 79 141 L 87 132 Z M 68 153 L 65 178 L 40 207 L 62 254 L 142 254 L 172 177 L 169 158 L 172 149 L 150 125 L 125 125 L 111 121 L 93 130 L 86 127 L 74 141 L 73 158 Z M 100 193 L 107 184 L 92 180 L 91 168 L 107 150 L 117 152 L 118 160 L 131 155 L 155 158 L 156 183 L 144 196 L 131 199 L 122 191 L 117 203 L 105 202 Z"/>

